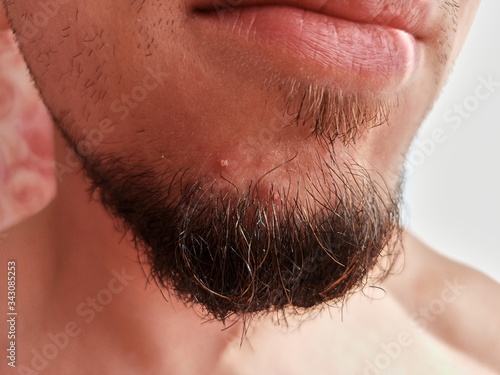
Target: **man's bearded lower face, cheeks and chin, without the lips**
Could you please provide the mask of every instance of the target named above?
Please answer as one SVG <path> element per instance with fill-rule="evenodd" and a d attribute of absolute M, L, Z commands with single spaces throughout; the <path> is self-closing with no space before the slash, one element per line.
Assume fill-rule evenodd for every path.
<path fill-rule="evenodd" d="M 341 301 L 381 259 L 376 276 L 390 268 L 404 155 L 478 5 L 422 3 L 432 3 L 426 17 L 407 15 L 422 30 L 413 68 L 363 75 L 353 60 L 356 75 L 238 19 L 240 32 L 227 19 L 212 28 L 207 2 L 5 1 L 94 196 L 132 232 L 160 286 L 220 319 Z"/>

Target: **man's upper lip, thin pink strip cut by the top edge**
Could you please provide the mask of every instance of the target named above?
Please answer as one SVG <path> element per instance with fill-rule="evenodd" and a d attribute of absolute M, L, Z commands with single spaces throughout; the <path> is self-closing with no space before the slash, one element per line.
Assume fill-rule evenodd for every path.
<path fill-rule="evenodd" d="M 429 0 L 193 0 L 192 9 L 224 13 L 245 7 L 290 6 L 348 21 L 392 27 L 424 38 L 431 31 L 438 3 Z"/>

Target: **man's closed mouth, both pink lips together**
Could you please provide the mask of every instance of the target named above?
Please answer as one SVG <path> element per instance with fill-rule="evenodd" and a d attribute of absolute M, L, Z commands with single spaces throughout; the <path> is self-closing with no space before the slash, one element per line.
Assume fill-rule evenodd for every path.
<path fill-rule="evenodd" d="M 250 60 L 257 55 L 259 63 L 347 92 L 393 94 L 412 82 L 421 65 L 420 39 L 433 9 L 426 0 L 369 3 L 200 0 L 192 13 L 198 31 L 208 36 L 204 43 L 245 51 Z"/>

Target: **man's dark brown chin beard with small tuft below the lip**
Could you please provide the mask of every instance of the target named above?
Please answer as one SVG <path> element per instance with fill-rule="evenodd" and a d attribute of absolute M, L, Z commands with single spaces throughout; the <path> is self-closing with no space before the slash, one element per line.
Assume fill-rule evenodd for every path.
<path fill-rule="evenodd" d="M 314 172 L 300 173 L 295 193 L 257 188 L 262 178 L 246 191 L 224 192 L 190 169 L 159 170 L 137 155 L 79 155 L 92 195 L 132 234 L 148 280 L 201 305 L 207 317 L 303 315 L 341 303 L 386 277 L 400 250 L 401 183 L 377 183 L 334 151 L 337 139 L 355 141 L 384 122 L 389 106 L 291 82 L 281 86 L 290 123 L 311 126 L 330 150 Z M 75 138 L 59 128 L 78 153 Z"/>

